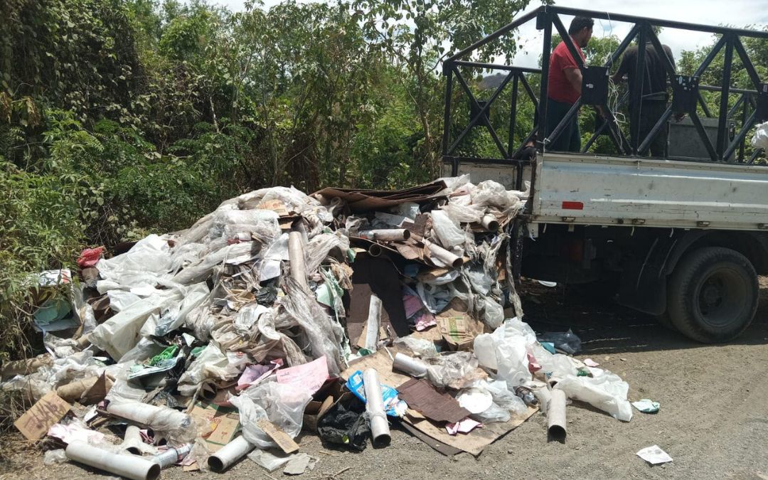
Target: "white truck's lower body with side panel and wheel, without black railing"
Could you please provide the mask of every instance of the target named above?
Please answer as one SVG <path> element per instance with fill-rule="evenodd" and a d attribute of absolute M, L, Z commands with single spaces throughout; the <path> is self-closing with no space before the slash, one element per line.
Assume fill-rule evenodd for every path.
<path fill-rule="evenodd" d="M 523 172 L 523 275 L 594 283 L 701 342 L 749 326 L 768 274 L 768 167 L 546 153 Z M 458 173 L 517 184 L 498 164 Z"/>

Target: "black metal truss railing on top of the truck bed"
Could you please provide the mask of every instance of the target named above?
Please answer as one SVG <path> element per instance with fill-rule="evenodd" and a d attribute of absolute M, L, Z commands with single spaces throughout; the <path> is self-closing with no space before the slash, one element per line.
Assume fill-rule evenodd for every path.
<path fill-rule="evenodd" d="M 635 71 L 644 71 L 646 45 L 652 45 L 657 52 L 664 51 L 664 48 L 654 31 L 654 27 L 703 31 L 720 35 L 717 43 L 707 54 L 706 58 L 703 59 L 695 73 L 690 77 L 677 74 L 674 64 L 670 61 L 670 58 L 667 58 L 667 55 L 658 55 L 658 58 L 660 58 L 660 61 L 663 64 L 664 71 L 667 74 L 668 86 L 670 86 L 672 90 L 672 101 L 668 104 L 664 114 L 658 119 L 647 135 L 641 138 L 641 108 L 630 109 L 630 125 L 632 131 L 629 136 L 630 140 L 627 140 L 619 127 L 619 123 L 615 120 L 616 112 L 611 110 L 611 106 L 607 101 L 604 101 L 596 106 L 601 108 L 605 121 L 600 127 L 596 128 L 594 134 L 586 144 L 584 144 L 584 147 L 581 149 L 582 153 L 588 151 L 601 134 L 607 134 L 620 155 L 633 157 L 646 155 L 654 138 L 656 138 L 661 129 L 666 126 L 670 117 L 673 114 L 687 114 L 700 137 L 700 141 L 707 150 L 709 157 L 708 161 L 738 161 L 745 164 L 751 164 L 755 161 L 758 154 L 760 154 L 760 151 L 755 151 L 749 159 L 745 159 L 744 141 L 746 134 L 756 122 L 768 120 L 768 84 L 761 81 L 760 75 L 754 68 L 741 38 L 768 38 L 768 31 L 751 31 L 740 28 L 696 25 L 631 15 L 611 14 L 608 12 L 593 12 L 578 8 L 542 6 L 525 15 L 521 15 L 521 17 L 515 19 L 515 21 L 511 22 L 509 25 L 500 28 L 491 35 L 464 48 L 462 51 L 452 55 L 452 57 L 447 58 L 443 62 L 443 74 L 446 76 L 447 83 L 445 88 L 442 156 L 444 162 L 452 164 L 454 174 L 457 174 L 458 164 L 462 161 L 515 164 L 518 167 L 518 171 L 521 171 L 522 166 L 526 162 L 524 160 L 515 160 L 515 157 L 518 157 L 518 154 L 520 154 L 522 149 L 532 138 L 536 137 L 538 139 L 537 145 L 539 151 L 546 151 L 548 145 L 557 140 L 560 134 L 564 131 L 568 122 L 572 121 L 574 116 L 578 115 L 579 109 L 584 104 L 582 98 L 579 98 L 578 101 L 576 101 L 570 111 L 568 111 L 551 132 L 545 135 L 545 129 L 541 127 L 542 125 L 547 124 L 548 112 L 546 99 L 548 98 L 549 58 L 551 54 L 553 28 L 554 31 L 557 31 L 561 36 L 562 41 L 564 41 L 565 46 L 571 52 L 578 67 L 582 69 L 585 68 L 584 61 L 582 61 L 581 55 L 579 55 L 578 48 L 574 45 L 571 36 L 568 35 L 568 31 L 564 27 L 560 15 L 578 15 L 606 19 L 611 22 L 630 22 L 634 24 L 616 50 L 607 58 L 607 61 L 604 64 L 604 67 L 607 68 L 610 68 L 611 65 L 621 58 L 621 55 L 624 54 L 624 51 L 627 50 L 627 47 L 631 45 L 632 41 L 637 39 L 637 64 L 635 65 Z M 514 65 L 498 65 L 465 60 L 465 58 L 472 55 L 472 52 L 477 51 L 478 48 L 482 48 L 489 42 L 505 37 L 505 35 L 508 35 L 511 31 L 514 31 L 516 28 L 527 22 L 531 22 L 534 19 L 536 28 L 544 32 L 541 50 L 541 68 L 521 68 L 515 67 Z M 723 75 L 720 84 L 698 85 L 700 76 L 707 70 L 720 51 L 723 51 Z M 740 58 L 741 65 L 743 65 L 743 68 L 746 70 L 746 74 L 754 89 L 731 87 L 731 71 L 733 68 L 734 54 Z M 505 71 L 506 76 L 488 100 L 478 101 L 475 94 L 472 94 L 467 79 L 462 75 L 462 69 L 469 69 L 470 71 L 472 71 L 472 69 L 499 70 Z M 538 98 L 533 88 L 531 88 L 531 84 L 527 78 L 528 75 L 540 75 Z M 681 88 L 681 81 L 688 84 L 689 88 Z M 460 129 L 456 129 L 455 126 L 452 125 L 452 111 L 455 107 L 454 104 L 457 103 L 453 94 L 454 83 L 457 83 L 462 91 L 468 95 L 471 105 L 471 114 L 468 118 L 468 122 Z M 499 138 L 498 132 L 492 126 L 492 122 L 488 121 L 488 118 L 492 105 L 498 100 L 502 93 L 505 92 L 510 84 L 511 99 L 508 118 L 508 137 L 505 145 Z M 691 84 L 694 85 L 692 88 L 690 88 Z M 631 91 L 627 91 L 627 93 L 617 101 L 614 108 L 620 108 L 622 105 L 627 104 L 627 101 L 631 104 L 641 105 L 643 91 L 644 75 L 637 75 Z M 706 117 L 715 118 L 710 111 L 710 108 L 707 107 L 701 91 L 720 92 L 719 109 L 716 117 L 718 119 L 717 138 L 715 139 L 714 144 L 710 141 L 710 137 L 707 136 L 707 131 L 697 113 L 697 106 L 700 106 Z M 519 120 L 517 106 L 518 101 L 523 94 L 533 102 L 535 106 L 535 118 L 532 119 L 533 129 L 531 132 L 519 139 L 519 141 L 515 141 L 515 128 Z M 739 94 L 739 98 L 737 99 L 736 104 L 729 107 L 730 94 Z M 686 98 L 687 101 L 684 101 Z M 729 118 L 732 118 L 734 114 L 737 114 L 739 109 L 741 109 L 740 130 L 732 132 L 733 135 L 731 137 L 728 132 Z M 458 156 L 456 154 L 457 148 L 462 144 L 462 141 L 465 141 L 469 132 L 476 127 L 485 127 L 488 131 L 488 134 L 490 134 L 493 143 L 498 149 L 498 157 L 486 156 L 481 158 Z M 455 130 L 460 131 L 458 134 L 452 135 L 452 131 Z M 738 155 L 734 155 L 737 151 Z M 519 177 L 520 176 L 518 175 L 518 178 Z"/>

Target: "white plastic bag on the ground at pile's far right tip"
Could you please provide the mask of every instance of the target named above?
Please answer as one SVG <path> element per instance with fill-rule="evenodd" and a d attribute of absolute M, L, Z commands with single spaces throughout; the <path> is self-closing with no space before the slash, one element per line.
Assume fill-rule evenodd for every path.
<path fill-rule="evenodd" d="M 591 369 L 595 370 L 601 369 Z M 569 399 L 587 402 L 609 413 L 614 419 L 622 422 L 632 419 L 632 406 L 627 400 L 629 385 L 615 373 L 602 370 L 602 375 L 594 377 L 569 375 L 554 388 L 561 389 Z"/>

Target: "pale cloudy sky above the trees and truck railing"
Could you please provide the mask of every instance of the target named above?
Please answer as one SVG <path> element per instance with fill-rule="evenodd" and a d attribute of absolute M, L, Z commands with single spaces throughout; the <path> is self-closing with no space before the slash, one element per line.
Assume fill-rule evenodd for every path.
<path fill-rule="evenodd" d="M 299 0 L 306 2 L 311 0 Z M 213 0 L 232 11 L 243 10 L 244 0 Z M 280 3 L 280 0 L 264 0 L 269 7 Z M 586 8 L 601 12 L 641 15 L 679 22 L 700 23 L 704 25 L 731 25 L 744 27 L 754 25 L 763 28 L 768 25 L 768 1 L 766 0 L 633 0 L 617 2 L 616 0 L 556 0 L 558 6 Z M 618 5 L 617 5 L 618 4 Z M 526 11 L 538 6 L 531 2 Z M 568 28 L 571 17 L 562 18 Z M 623 38 L 631 28 L 630 24 L 598 20 L 595 22 L 594 35 L 617 35 Z M 541 31 L 535 29 L 535 22 L 528 22 L 520 29 L 521 51 L 515 56 L 514 65 L 536 67 L 538 56 L 541 55 Z M 675 57 L 682 50 L 694 50 L 702 45 L 708 45 L 711 35 L 694 31 L 680 31 L 664 28 L 660 40 L 672 48 Z"/>

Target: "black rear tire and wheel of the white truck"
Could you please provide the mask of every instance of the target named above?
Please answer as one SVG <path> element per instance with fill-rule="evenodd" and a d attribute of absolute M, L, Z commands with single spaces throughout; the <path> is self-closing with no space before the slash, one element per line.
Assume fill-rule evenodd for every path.
<path fill-rule="evenodd" d="M 694 250 L 675 267 L 667 312 L 680 333 L 703 343 L 728 342 L 752 322 L 760 286 L 750 260 L 736 250 Z"/>

